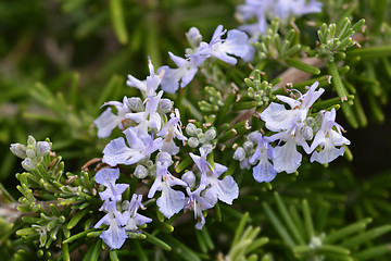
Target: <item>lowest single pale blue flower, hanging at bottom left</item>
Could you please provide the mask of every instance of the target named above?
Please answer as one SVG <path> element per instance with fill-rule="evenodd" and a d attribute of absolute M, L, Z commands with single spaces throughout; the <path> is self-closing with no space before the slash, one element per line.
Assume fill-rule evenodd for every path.
<path fill-rule="evenodd" d="M 103 231 L 100 237 L 111 249 L 119 249 L 128 237 L 123 227 L 126 224 L 126 220 L 123 214 L 116 210 L 115 201 L 108 202 L 105 210 L 108 211 L 108 214 L 105 214 L 93 227 L 98 228 L 102 224 L 109 225 L 109 228 Z"/>

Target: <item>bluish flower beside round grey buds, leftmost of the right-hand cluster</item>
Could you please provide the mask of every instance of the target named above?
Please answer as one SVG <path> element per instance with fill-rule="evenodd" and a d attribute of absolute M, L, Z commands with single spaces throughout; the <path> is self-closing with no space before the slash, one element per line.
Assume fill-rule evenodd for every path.
<path fill-rule="evenodd" d="M 269 160 L 273 160 L 273 147 L 267 142 L 261 133 L 256 133 L 257 135 L 257 146 L 254 154 L 251 157 L 249 163 L 254 163 L 255 161 L 260 161 L 256 166 L 253 167 L 253 176 L 254 179 L 258 183 L 272 182 L 277 172 L 274 169 L 273 164 Z"/>

